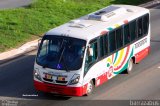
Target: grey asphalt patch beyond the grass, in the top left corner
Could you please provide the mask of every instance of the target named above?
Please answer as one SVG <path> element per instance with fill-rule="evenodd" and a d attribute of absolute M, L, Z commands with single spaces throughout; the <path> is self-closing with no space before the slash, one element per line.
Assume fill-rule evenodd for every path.
<path fill-rule="evenodd" d="M 0 0 L 0 9 L 26 6 L 32 0 Z"/>

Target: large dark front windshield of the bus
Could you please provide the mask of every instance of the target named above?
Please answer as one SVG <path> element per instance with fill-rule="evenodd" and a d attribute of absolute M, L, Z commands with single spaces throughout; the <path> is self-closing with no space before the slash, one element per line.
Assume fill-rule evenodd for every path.
<path fill-rule="evenodd" d="M 86 41 L 64 36 L 46 35 L 43 37 L 37 64 L 43 68 L 58 70 L 78 70 L 82 66 Z"/>

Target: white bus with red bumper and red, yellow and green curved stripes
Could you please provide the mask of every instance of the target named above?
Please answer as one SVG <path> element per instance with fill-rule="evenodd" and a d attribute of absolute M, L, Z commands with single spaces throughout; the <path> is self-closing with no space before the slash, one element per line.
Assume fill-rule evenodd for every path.
<path fill-rule="evenodd" d="M 149 10 L 111 5 L 51 29 L 34 65 L 36 90 L 83 96 L 114 76 L 130 73 L 150 51 Z"/>

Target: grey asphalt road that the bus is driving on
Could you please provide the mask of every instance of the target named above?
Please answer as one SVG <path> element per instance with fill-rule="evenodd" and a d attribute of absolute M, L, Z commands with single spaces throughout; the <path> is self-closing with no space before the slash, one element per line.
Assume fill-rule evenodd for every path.
<path fill-rule="evenodd" d="M 151 9 L 151 53 L 134 65 L 130 75 L 118 75 L 88 97 L 61 97 L 36 92 L 33 87 L 35 52 L 0 66 L 0 100 L 22 100 L 20 105 L 129 105 L 130 101 L 99 100 L 160 100 L 160 8 Z M 35 96 L 25 96 L 25 95 Z M 160 105 L 160 101 L 158 101 Z M 0 104 L 1 105 L 1 104 Z"/>

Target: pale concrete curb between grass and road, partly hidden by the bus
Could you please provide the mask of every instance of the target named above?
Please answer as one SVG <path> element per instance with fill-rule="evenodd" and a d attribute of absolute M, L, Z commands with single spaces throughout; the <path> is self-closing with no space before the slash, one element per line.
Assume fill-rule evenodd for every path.
<path fill-rule="evenodd" d="M 153 0 L 144 4 L 139 5 L 140 7 L 152 8 L 160 4 L 160 0 Z M 17 49 L 0 53 L 0 65 L 5 64 L 18 57 L 24 56 L 25 54 L 35 51 L 38 48 L 38 39 L 28 42 Z"/>

